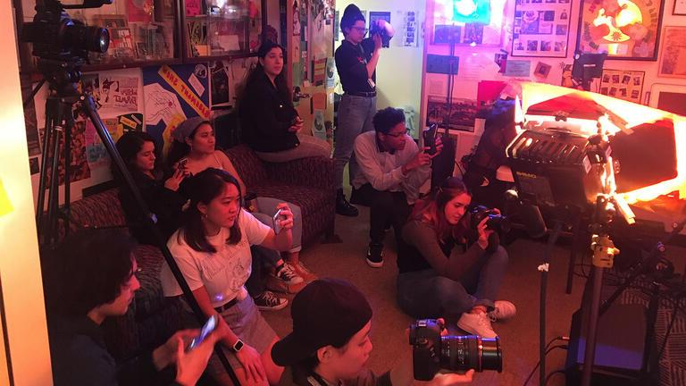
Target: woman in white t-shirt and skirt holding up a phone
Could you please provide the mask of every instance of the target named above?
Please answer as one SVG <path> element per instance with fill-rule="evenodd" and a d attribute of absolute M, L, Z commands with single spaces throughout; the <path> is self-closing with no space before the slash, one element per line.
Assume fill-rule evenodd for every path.
<path fill-rule="evenodd" d="M 242 209 L 238 180 L 214 168 L 188 179 L 188 195 L 190 206 L 180 230 L 167 243 L 171 255 L 205 316 L 219 314 L 220 323 L 229 326 L 222 349 L 240 383 L 275 384 L 283 371 L 270 355 L 277 336 L 247 296 L 245 283 L 251 270 L 251 245 L 289 250 L 293 214 L 287 204 L 279 204 L 281 231 L 275 234 Z M 164 296 L 182 294 L 168 264 L 163 264 L 160 276 Z M 208 369 L 217 382 L 231 384 L 216 356 Z"/>

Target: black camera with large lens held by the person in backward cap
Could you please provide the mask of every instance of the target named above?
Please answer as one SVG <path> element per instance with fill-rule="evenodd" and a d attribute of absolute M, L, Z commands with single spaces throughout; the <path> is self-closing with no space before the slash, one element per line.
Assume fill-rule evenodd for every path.
<path fill-rule="evenodd" d="M 410 324 L 410 345 L 414 379 L 431 381 L 440 369 L 466 371 L 474 369 L 503 371 L 500 339 L 476 335 L 441 336 L 442 325 L 435 319 L 422 319 Z"/>

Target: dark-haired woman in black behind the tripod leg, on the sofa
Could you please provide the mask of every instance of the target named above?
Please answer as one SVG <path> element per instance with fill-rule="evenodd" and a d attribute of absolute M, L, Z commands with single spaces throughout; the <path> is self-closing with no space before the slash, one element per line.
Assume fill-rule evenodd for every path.
<path fill-rule="evenodd" d="M 130 131 L 117 141 L 117 151 L 126 164 L 133 180 L 136 182 L 150 212 L 155 214 L 157 226 L 164 239 L 179 229 L 179 218 L 183 205 L 188 201 L 179 194 L 181 181 L 186 177 L 182 169 L 176 169 L 165 180 L 164 173 L 157 163 L 155 140 L 147 133 Z M 113 175 L 121 181 L 119 172 L 113 167 Z M 131 234 L 141 244 L 157 245 L 151 231 L 146 227 L 146 220 L 127 187 L 119 190 L 121 207 L 126 215 Z"/>

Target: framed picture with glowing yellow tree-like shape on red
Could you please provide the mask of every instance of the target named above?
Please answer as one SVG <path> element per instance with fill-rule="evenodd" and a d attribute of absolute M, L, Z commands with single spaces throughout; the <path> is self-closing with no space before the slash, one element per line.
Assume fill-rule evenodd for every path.
<path fill-rule="evenodd" d="M 665 0 L 581 0 L 576 50 L 607 59 L 657 60 Z"/>

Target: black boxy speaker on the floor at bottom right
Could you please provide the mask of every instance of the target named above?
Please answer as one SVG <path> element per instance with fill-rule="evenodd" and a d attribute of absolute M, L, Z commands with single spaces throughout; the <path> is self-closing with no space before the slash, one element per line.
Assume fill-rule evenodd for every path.
<path fill-rule="evenodd" d="M 589 302 L 572 316 L 572 328 L 565 362 L 567 385 L 581 384 L 586 349 Z M 646 308 L 614 303 L 598 320 L 592 385 L 629 386 L 640 383 L 640 369 L 646 340 Z"/>

